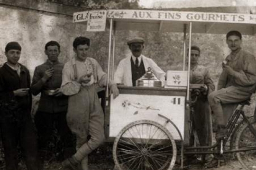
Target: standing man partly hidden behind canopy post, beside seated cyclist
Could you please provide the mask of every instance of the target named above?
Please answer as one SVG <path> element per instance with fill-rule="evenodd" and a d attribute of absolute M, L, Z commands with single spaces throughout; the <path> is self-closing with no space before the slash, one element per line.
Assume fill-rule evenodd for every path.
<path fill-rule="evenodd" d="M 197 101 L 193 105 L 193 128 L 199 138 L 201 146 L 210 145 L 210 106 L 207 100 L 208 95 L 214 91 L 214 83 L 210 77 L 209 70 L 198 64 L 200 58 L 200 48 L 191 47 L 191 72 L 190 83 L 204 85 L 200 89 Z M 206 157 L 206 161 L 210 161 L 211 155 Z"/>

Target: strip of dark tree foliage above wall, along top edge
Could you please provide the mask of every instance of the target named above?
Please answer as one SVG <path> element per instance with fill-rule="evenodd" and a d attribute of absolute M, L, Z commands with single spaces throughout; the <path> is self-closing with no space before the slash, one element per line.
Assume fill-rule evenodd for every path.
<path fill-rule="evenodd" d="M 139 0 L 41 0 L 90 9 L 137 9 Z"/>

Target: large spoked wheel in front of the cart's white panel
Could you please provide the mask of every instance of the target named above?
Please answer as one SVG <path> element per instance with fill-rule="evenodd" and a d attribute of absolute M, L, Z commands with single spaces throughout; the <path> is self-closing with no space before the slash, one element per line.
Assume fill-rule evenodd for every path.
<path fill-rule="evenodd" d="M 113 159 L 119 170 L 172 170 L 176 153 L 171 133 L 150 120 L 128 124 L 113 145 Z"/>

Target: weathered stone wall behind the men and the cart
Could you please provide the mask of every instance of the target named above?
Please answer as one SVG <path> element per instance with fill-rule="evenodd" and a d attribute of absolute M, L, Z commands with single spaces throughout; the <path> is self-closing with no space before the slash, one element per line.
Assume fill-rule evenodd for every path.
<path fill-rule="evenodd" d="M 0 0 L 1 1 L 1 0 Z M 51 4 L 48 4 L 51 6 Z M 90 56 L 97 59 L 107 72 L 109 30 L 91 33 L 84 24 L 72 22 L 72 11 L 64 8 L 42 10 L 24 6 L 1 5 L 0 3 L 0 63 L 6 61 L 4 48 L 9 41 L 18 41 L 22 46 L 20 62 L 27 66 L 31 76 L 37 65 L 46 61 L 44 46 L 55 40 L 61 44 L 60 61 L 66 62 L 73 56 L 72 42 L 76 36 L 91 38 Z M 76 12 L 77 8 L 73 9 Z M 79 9 L 82 10 L 82 9 Z M 181 70 L 183 67 L 183 34 L 166 32 L 116 32 L 115 68 L 118 62 L 130 55 L 126 42 L 129 38 L 145 38 L 143 54 L 155 60 L 163 70 Z M 255 36 L 243 37 L 243 48 L 256 54 Z M 200 64 L 209 67 L 215 84 L 221 72 L 221 61 L 229 53 L 225 35 L 193 34 L 192 44 L 201 48 Z M 255 103 L 250 106 L 254 109 Z M 251 112 L 248 114 L 252 114 Z"/>

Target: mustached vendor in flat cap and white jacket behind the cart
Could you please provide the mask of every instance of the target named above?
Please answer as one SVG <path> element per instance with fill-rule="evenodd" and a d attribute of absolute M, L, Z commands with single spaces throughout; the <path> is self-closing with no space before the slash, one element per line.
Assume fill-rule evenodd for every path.
<path fill-rule="evenodd" d="M 127 44 L 132 55 L 119 62 L 114 76 L 115 83 L 136 86 L 136 80 L 143 76 L 150 67 L 162 85 L 165 85 L 165 72 L 152 59 L 141 54 L 144 49 L 144 39 L 137 37 L 128 41 Z"/>

